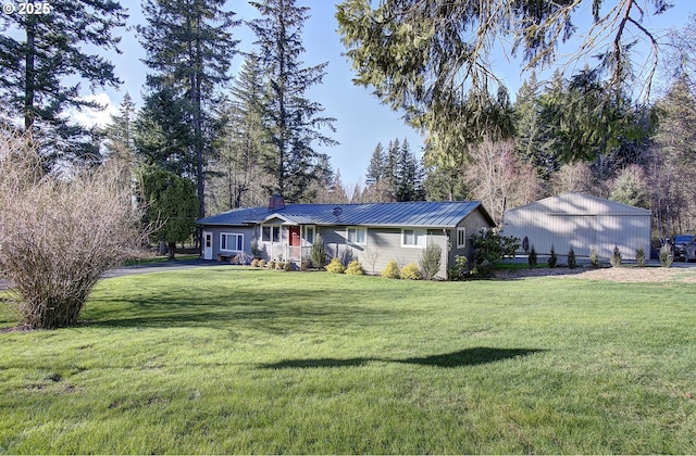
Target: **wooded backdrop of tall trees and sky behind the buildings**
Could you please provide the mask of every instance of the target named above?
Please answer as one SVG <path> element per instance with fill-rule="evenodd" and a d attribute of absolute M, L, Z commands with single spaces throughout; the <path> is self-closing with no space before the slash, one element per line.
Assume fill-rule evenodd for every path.
<path fill-rule="evenodd" d="M 696 230 L 688 2 L 577 2 L 570 35 L 581 39 L 550 45 L 564 59 L 535 63 L 530 47 L 518 55 L 504 39 L 486 43 L 485 81 L 462 83 L 465 97 L 437 122 L 412 87 L 395 89 L 395 74 L 418 79 L 395 55 L 430 37 L 409 22 L 423 17 L 393 17 L 391 37 L 403 34 L 407 45 L 384 47 L 394 52 L 380 56 L 401 65 L 389 74 L 389 64 L 365 64 L 374 49 L 356 39 L 376 5 L 365 13 L 360 0 L 311 3 L 54 0 L 49 14 L 4 13 L 3 122 L 35 131 L 47 173 L 116 166 L 151 218 L 185 202 L 169 218 L 189 223 L 167 238 L 198 216 L 265 205 L 274 193 L 314 203 L 476 199 L 500 221 L 506 208 L 582 191 L 650 208 L 657 236 Z M 409 14 L 422 4 L 407 3 Z M 583 47 L 601 31 L 596 18 L 614 10 L 638 13 L 621 43 L 638 71 L 621 84 L 607 59 L 595 59 L 611 39 Z M 606 36 L 618 33 L 617 17 Z M 334 75 L 339 88 L 327 87 Z M 99 103 L 107 122 L 95 122 Z"/>

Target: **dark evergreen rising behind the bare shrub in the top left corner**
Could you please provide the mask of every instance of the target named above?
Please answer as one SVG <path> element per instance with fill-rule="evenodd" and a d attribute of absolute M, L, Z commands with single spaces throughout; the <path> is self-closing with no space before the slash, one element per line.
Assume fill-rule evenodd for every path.
<path fill-rule="evenodd" d="M 88 131 L 70 124 L 64 111 L 100 107 L 82 98 L 83 81 L 92 90 L 121 84 L 114 65 L 89 50 L 117 50 L 114 31 L 127 15 L 114 0 L 35 4 L 39 14 L 0 14 L 0 98 L 9 116 L 24 118 L 25 129 L 38 139 L 48 135 L 40 145 L 50 168 L 59 159 L 96 152 L 87 145 L 92 139 Z"/>

